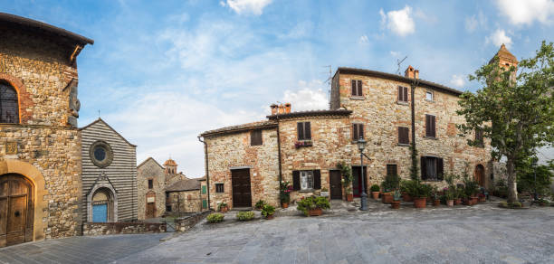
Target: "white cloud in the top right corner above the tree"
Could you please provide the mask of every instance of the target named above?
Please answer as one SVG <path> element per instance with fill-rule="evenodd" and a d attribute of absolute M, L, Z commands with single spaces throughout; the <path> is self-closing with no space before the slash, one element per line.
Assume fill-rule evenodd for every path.
<path fill-rule="evenodd" d="M 511 24 L 530 25 L 535 20 L 541 24 L 551 24 L 554 21 L 552 0 L 497 0 L 496 5 Z"/>

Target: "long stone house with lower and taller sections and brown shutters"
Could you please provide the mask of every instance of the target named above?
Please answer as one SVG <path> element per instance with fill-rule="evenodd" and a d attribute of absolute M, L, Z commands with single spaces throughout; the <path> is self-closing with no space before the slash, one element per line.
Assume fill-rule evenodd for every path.
<path fill-rule="evenodd" d="M 504 46 L 497 55 L 502 63 L 517 65 Z M 359 196 L 362 170 L 368 186 L 380 184 L 387 174 L 409 178 L 414 139 L 425 183 L 444 186 L 444 174 L 466 172 L 490 188 L 497 170 L 490 141 L 479 131 L 458 135 L 456 125 L 465 121 L 456 114 L 461 94 L 419 79 L 411 66 L 404 76 L 341 67 L 331 81 L 328 110 L 291 112 L 291 104 L 272 105 L 267 120 L 200 135 L 210 207 L 221 202 L 252 207 L 259 199 L 279 205 L 282 181 L 293 185 L 293 200 L 322 188 L 330 190 L 331 199 L 342 199 L 339 162 L 351 166 L 351 187 Z M 368 142 L 363 167 L 359 137 Z M 482 140 L 482 146 L 468 146 L 468 139 Z"/>

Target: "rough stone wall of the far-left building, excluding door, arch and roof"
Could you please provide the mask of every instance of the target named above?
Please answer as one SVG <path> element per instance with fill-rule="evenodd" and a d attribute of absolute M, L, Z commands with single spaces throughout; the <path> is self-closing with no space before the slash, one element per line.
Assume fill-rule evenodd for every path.
<path fill-rule="evenodd" d="M 77 235 L 81 231 L 81 139 L 68 124 L 72 88 L 66 88 L 78 78 L 69 60 L 71 47 L 3 25 L 0 29 L 0 80 L 17 90 L 20 112 L 19 124 L 0 125 L 0 174 L 30 177 L 29 169 L 9 169 L 6 164 L 12 161 L 41 174 L 43 184 L 32 179 L 34 193 L 40 193 L 34 197 L 33 240 Z M 15 149 L 6 152 L 13 144 Z"/>

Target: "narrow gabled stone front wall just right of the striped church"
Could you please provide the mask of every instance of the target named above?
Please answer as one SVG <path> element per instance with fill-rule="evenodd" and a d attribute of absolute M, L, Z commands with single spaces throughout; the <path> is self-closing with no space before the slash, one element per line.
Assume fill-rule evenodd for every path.
<path fill-rule="evenodd" d="M 148 189 L 148 179 L 154 181 L 152 189 Z M 139 220 L 146 218 L 147 193 L 155 193 L 155 217 L 161 217 L 166 212 L 166 173 L 151 157 L 137 167 L 137 193 Z"/>

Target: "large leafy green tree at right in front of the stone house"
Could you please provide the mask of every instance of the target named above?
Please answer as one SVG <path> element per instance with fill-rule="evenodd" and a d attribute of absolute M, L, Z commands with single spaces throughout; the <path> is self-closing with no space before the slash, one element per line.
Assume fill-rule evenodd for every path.
<path fill-rule="evenodd" d="M 483 65 L 470 80 L 482 89 L 464 92 L 459 115 L 463 135 L 481 130 L 491 139 L 492 157 L 506 159 L 508 203 L 518 201 L 515 165 L 537 147 L 554 143 L 554 52 L 552 42 L 542 42 L 533 58 L 518 68 L 499 65 L 499 59 Z M 468 140 L 470 145 L 480 142 Z"/>

